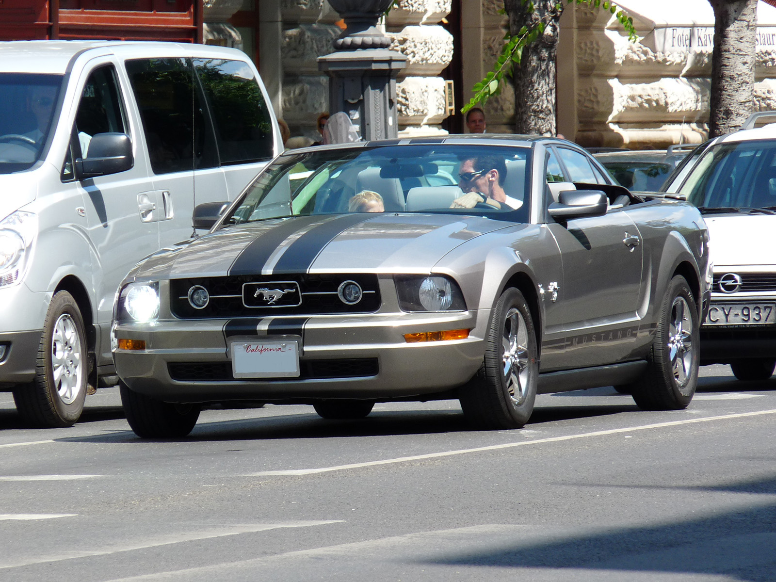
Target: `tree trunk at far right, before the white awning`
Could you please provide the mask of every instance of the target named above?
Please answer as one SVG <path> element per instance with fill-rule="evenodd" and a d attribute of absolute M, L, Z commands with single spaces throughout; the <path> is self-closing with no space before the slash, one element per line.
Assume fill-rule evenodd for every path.
<path fill-rule="evenodd" d="M 757 0 L 708 2 L 715 16 L 708 137 L 717 137 L 739 129 L 752 113 Z"/>

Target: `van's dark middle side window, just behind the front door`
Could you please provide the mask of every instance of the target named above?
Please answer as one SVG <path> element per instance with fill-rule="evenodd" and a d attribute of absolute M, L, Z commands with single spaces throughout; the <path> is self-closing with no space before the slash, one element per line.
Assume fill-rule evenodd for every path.
<path fill-rule="evenodd" d="M 154 174 L 216 167 L 216 143 L 191 59 L 135 59 L 126 61 L 126 72 Z"/>

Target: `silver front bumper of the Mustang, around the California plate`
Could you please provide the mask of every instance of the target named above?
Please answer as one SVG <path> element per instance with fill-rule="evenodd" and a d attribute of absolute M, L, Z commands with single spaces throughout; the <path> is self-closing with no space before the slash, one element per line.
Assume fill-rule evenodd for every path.
<path fill-rule="evenodd" d="M 358 317 L 322 315 L 305 318 L 301 323 L 300 317 L 274 317 L 271 323 L 259 323 L 255 335 L 229 338 L 224 333 L 226 320 L 120 324 L 114 329 L 115 338 L 144 340 L 146 350 L 116 348 L 113 359 L 117 373 L 131 390 L 171 402 L 411 398 L 456 388 L 474 375 L 482 364 L 489 317 L 490 310 L 377 313 Z M 296 333 L 292 331 L 295 326 L 299 330 Z M 408 333 L 463 328 L 471 330 L 469 338 L 464 340 L 404 341 L 404 334 Z M 272 329 L 280 333 L 272 334 Z M 307 369 L 307 377 L 227 377 L 231 376 L 232 341 L 269 341 L 283 337 L 300 338 L 300 365 Z M 314 371 L 320 369 L 320 362 L 331 363 L 325 366 L 327 372 L 323 376 L 336 374 L 337 361 L 343 362 L 340 377 L 315 377 L 320 376 Z M 365 361 L 372 361 L 375 366 L 352 366 L 352 362 Z M 187 365 L 193 373 L 180 379 Z M 220 370 L 220 373 L 214 373 L 210 379 L 198 377 L 196 372 L 205 369 Z M 359 369 L 363 372 L 358 372 Z M 364 375 L 353 376 L 354 373 Z"/>

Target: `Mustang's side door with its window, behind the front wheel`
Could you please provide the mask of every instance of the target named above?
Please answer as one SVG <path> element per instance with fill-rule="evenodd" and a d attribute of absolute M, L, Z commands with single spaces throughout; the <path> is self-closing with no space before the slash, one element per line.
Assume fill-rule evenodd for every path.
<path fill-rule="evenodd" d="M 584 154 L 557 148 L 568 182 L 596 183 Z M 570 368 L 625 358 L 639 329 L 643 244 L 639 229 L 622 209 L 566 223 L 549 219 L 560 249 L 563 282 L 557 316 L 566 328 L 564 363 Z"/>

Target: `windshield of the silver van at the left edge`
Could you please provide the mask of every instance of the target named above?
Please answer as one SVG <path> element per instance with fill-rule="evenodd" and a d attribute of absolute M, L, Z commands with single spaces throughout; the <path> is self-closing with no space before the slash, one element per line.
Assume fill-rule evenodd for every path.
<path fill-rule="evenodd" d="M 43 156 L 61 84 L 60 74 L 0 73 L 0 174 Z"/>

